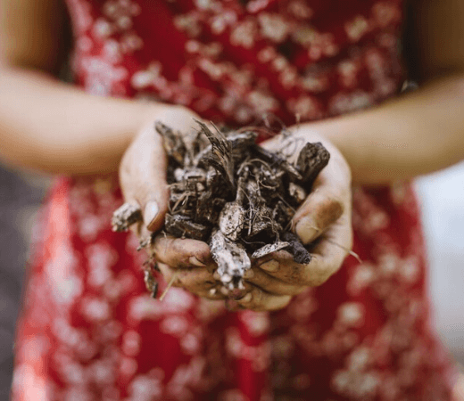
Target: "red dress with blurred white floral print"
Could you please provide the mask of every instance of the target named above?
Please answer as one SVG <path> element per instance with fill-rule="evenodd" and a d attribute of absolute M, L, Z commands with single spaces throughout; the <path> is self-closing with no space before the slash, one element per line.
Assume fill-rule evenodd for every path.
<path fill-rule="evenodd" d="M 68 0 L 87 93 L 290 126 L 397 94 L 401 0 Z M 82 116 L 85 118 L 85 116 Z M 409 184 L 353 191 L 354 248 L 274 313 L 145 291 L 115 176 L 58 179 L 35 233 L 12 400 L 451 399 Z"/>

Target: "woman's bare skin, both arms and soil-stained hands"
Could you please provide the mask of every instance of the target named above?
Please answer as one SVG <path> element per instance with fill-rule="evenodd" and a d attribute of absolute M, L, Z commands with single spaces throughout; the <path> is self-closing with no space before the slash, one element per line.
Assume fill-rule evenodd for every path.
<path fill-rule="evenodd" d="M 54 174 L 119 168 L 126 199 L 144 210 L 145 226 L 137 232 L 160 228 L 168 200 L 166 159 L 153 121 L 188 128 L 195 113 L 181 106 L 95 97 L 58 82 L 53 77 L 67 50 L 60 40 L 62 2 L 4 0 L 0 7 L 0 157 Z M 294 294 L 338 270 L 352 246 L 352 181 L 386 184 L 463 158 L 464 3 L 417 0 L 411 7 L 410 40 L 423 86 L 376 108 L 294 127 L 295 135 L 321 140 L 332 153 L 316 191 L 294 217 L 294 230 L 304 242 L 319 240 L 315 258 L 300 266 L 278 252 L 255 261 L 247 288 L 251 298 L 245 295 L 237 307 L 285 307 Z M 159 238 L 153 251 L 167 277 L 178 272 L 176 285 L 200 296 L 211 290 L 211 277 L 204 273 L 211 270 L 206 244 Z"/>

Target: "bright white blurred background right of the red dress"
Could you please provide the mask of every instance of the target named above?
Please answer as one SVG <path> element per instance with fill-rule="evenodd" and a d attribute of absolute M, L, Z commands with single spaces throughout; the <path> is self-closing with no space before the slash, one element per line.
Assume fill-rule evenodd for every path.
<path fill-rule="evenodd" d="M 464 363 L 464 163 L 417 180 L 430 291 L 443 341 Z"/>

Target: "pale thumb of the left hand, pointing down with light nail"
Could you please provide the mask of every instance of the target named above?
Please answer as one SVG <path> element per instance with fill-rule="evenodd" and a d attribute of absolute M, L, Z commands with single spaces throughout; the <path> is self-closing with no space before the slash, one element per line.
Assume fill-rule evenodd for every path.
<path fill-rule="evenodd" d="M 153 124 L 144 128 L 126 151 L 120 164 L 120 183 L 126 201 L 137 202 L 150 231 L 164 224 L 168 210 L 167 158 L 162 137 Z"/>

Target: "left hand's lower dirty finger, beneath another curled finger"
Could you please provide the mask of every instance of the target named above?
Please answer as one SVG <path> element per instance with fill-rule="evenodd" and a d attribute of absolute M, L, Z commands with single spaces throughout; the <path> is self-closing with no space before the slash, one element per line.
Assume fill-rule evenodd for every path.
<path fill-rule="evenodd" d="M 166 282 L 173 280 L 173 287 L 184 288 L 207 299 L 226 299 L 218 289 L 219 284 L 206 269 L 172 269 L 164 263 L 158 263 L 158 266 Z"/>

